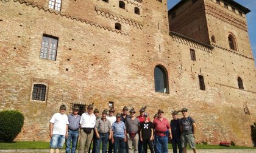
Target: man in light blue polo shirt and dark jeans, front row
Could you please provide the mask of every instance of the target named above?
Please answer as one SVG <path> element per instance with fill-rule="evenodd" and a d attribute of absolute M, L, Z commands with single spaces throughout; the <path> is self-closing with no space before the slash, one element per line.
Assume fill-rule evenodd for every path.
<path fill-rule="evenodd" d="M 112 143 L 114 143 L 114 153 L 124 153 L 127 141 L 126 125 L 121 121 L 121 114 L 116 114 L 116 121 L 112 125 Z M 120 150 L 118 148 L 120 146 Z"/>

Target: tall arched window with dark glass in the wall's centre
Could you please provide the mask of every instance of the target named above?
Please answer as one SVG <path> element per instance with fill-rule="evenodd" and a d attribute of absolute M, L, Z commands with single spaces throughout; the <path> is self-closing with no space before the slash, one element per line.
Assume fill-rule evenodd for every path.
<path fill-rule="evenodd" d="M 154 69 L 155 92 L 169 93 L 168 73 L 165 67 L 156 66 Z"/>

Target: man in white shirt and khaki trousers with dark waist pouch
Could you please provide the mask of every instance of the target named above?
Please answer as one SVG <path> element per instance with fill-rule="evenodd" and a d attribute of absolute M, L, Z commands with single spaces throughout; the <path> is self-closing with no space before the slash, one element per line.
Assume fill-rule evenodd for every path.
<path fill-rule="evenodd" d="M 80 146 L 79 153 L 88 152 L 91 140 L 93 139 L 93 129 L 96 123 L 96 117 L 93 114 L 93 106 L 87 107 L 87 112 L 82 114 L 80 120 Z M 85 148 L 85 149 L 84 149 Z"/>

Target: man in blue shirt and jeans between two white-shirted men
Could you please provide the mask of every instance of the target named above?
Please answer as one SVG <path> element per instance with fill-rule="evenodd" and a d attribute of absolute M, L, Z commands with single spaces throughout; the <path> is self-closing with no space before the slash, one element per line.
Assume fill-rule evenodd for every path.
<path fill-rule="evenodd" d="M 71 153 L 76 153 L 76 145 L 79 134 L 79 122 L 81 116 L 78 115 L 79 107 L 74 106 L 73 114 L 68 115 L 68 138 L 66 139 L 66 153 L 70 152 L 70 146 L 72 141 Z"/>

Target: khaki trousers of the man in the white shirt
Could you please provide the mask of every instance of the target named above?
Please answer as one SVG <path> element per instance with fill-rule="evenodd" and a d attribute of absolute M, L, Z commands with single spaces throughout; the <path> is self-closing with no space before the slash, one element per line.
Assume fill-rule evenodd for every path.
<path fill-rule="evenodd" d="M 78 153 L 84 153 L 88 152 L 88 149 L 90 148 L 91 140 L 93 140 L 93 130 L 90 134 L 85 134 L 83 129 L 80 129 L 79 135 L 80 135 L 80 146 Z M 85 148 L 85 149 L 84 149 Z"/>

